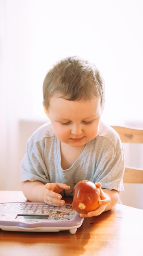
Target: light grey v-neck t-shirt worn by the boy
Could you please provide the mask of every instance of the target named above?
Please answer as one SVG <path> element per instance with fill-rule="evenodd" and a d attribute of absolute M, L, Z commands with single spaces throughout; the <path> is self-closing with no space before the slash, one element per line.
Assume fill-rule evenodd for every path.
<path fill-rule="evenodd" d="M 69 169 L 63 170 L 60 141 L 48 122 L 28 139 L 20 171 L 21 182 L 29 180 L 69 185 L 71 189 L 65 191 L 67 196 L 73 195 L 73 188 L 80 180 L 101 182 L 102 189 L 124 191 L 124 150 L 117 132 L 100 122 L 97 137 L 86 144 Z"/>

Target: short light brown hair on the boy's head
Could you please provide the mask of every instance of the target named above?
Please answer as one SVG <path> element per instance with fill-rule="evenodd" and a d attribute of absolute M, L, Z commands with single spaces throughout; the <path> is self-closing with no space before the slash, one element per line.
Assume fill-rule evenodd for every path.
<path fill-rule="evenodd" d="M 69 101 L 90 100 L 94 96 L 104 104 L 104 79 L 97 67 L 78 56 L 61 59 L 48 71 L 43 81 L 43 104 L 55 96 Z"/>

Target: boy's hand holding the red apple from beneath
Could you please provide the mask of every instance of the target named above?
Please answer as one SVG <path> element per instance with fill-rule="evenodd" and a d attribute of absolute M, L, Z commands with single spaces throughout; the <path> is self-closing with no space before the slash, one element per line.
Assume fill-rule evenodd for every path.
<path fill-rule="evenodd" d="M 101 188 L 100 188 L 100 198 L 101 198 L 101 200 L 99 201 L 100 206 L 97 209 L 95 209 L 94 211 L 89 211 L 88 213 L 80 213 L 80 217 L 87 218 L 87 217 L 100 215 L 105 210 L 106 206 L 111 202 L 108 195 L 106 195 Z"/>

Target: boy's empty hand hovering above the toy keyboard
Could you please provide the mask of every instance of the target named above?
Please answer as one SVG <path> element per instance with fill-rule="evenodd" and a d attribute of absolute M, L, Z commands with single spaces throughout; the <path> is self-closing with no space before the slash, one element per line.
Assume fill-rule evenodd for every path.
<path fill-rule="evenodd" d="M 59 182 L 45 184 L 43 195 L 44 202 L 54 206 L 62 206 L 65 204 L 65 201 L 61 200 L 62 195 L 59 194 L 63 189 L 68 190 L 70 189 L 70 186 Z"/>

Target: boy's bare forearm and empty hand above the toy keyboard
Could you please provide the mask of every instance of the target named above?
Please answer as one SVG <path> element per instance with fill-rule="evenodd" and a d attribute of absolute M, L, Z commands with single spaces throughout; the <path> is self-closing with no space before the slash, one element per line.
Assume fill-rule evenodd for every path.
<path fill-rule="evenodd" d="M 62 196 L 59 194 L 63 189 L 68 190 L 70 186 L 58 182 L 47 184 L 43 184 L 40 181 L 30 182 L 29 180 L 22 182 L 22 191 L 29 201 L 45 202 L 54 206 L 65 204 L 65 201 L 61 200 Z"/>

